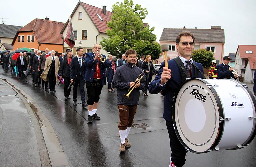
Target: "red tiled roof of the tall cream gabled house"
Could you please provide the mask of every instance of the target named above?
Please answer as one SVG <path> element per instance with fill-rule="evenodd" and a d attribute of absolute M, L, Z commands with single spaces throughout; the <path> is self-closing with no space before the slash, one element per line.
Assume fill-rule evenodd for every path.
<path fill-rule="evenodd" d="M 89 16 L 91 17 L 92 21 L 98 28 L 99 32 L 106 33 L 106 30 L 108 29 L 107 22 L 111 21 L 112 12 L 106 11 L 106 15 L 104 15 L 102 8 L 97 8 L 95 6 L 92 6 L 83 2 L 81 2 L 81 4 L 85 8 Z M 100 15 L 103 21 L 100 20 L 97 14 Z"/>

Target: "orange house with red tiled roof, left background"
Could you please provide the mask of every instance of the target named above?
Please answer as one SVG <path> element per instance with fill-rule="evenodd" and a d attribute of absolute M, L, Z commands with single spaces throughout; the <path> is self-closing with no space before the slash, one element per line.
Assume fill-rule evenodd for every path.
<path fill-rule="evenodd" d="M 55 50 L 57 53 L 63 51 L 63 39 L 60 31 L 65 23 L 50 21 L 48 17 L 43 19 L 34 19 L 26 26 L 17 31 L 12 45 L 14 50 L 28 47 L 32 51 L 35 48 L 44 51 L 45 48 Z"/>

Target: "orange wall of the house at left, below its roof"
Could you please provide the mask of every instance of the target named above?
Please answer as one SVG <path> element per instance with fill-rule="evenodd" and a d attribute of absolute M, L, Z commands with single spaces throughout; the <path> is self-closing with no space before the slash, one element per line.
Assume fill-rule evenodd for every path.
<path fill-rule="evenodd" d="M 36 37 L 34 38 L 35 42 L 28 42 L 27 41 L 28 35 L 34 35 L 34 33 L 33 32 L 20 32 L 18 34 L 18 36 L 24 36 L 24 42 L 18 42 L 18 37 L 17 37 L 13 44 L 13 50 L 17 50 L 18 48 L 22 48 L 22 47 L 28 47 L 28 48 L 34 48 L 34 49 L 39 49 L 39 50 L 44 51 L 45 48 L 48 48 L 49 50 L 55 50 L 58 53 L 62 53 L 63 45 L 41 43 L 41 45 L 39 46 Z M 30 40 L 31 40 L 31 38 L 30 38 Z"/>

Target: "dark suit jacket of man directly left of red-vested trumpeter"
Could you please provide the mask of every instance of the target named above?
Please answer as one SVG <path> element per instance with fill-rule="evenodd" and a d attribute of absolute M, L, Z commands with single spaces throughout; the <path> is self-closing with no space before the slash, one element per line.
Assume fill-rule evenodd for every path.
<path fill-rule="evenodd" d="M 70 65 L 70 79 L 73 79 L 75 75 L 77 77 L 81 76 L 82 79 L 84 79 L 84 73 L 85 73 L 85 63 L 83 57 L 81 57 L 82 65 L 80 67 L 79 61 L 77 56 L 73 57 L 71 59 L 71 65 Z M 65 58 L 66 59 L 66 58 Z"/>

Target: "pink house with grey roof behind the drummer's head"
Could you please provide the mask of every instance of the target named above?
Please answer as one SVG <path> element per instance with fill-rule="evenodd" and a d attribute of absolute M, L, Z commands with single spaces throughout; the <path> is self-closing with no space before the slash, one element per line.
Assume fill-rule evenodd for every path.
<path fill-rule="evenodd" d="M 221 29 L 220 26 L 211 26 L 211 29 L 187 29 L 185 27 L 183 29 L 164 28 L 159 43 L 160 45 L 169 45 L 169 51 L 167 52 L 167 55 L 171 56 L 171 59 L 178 56 L 178 52 L 175 47 L 176 38 L 178 34 L 183 31 L 189 31 L 194 35 L 196 42 L 194 50 L 201 48 L 210 50 L 214 53 L 217 64 L 222 62 L 225 35 L 224 29 Z M 164 61 L 164 58 L 159 57 L 158 63 L 161 63 L 162 61 Z"/>

